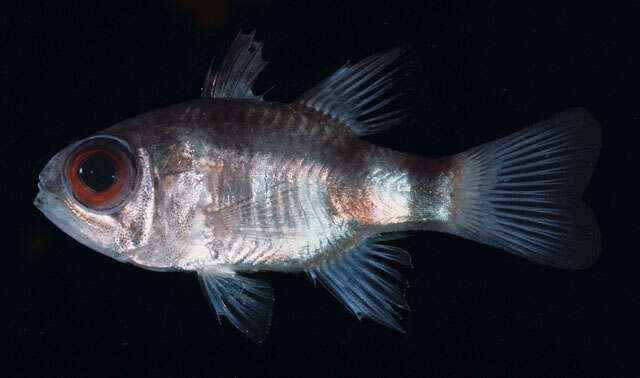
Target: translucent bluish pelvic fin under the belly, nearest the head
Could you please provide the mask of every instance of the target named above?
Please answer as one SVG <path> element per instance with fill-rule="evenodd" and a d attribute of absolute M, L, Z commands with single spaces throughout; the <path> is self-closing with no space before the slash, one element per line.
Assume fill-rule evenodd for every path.
<path fill-rule="evenodd" d="M 271 327 L 273 290 L 261 280 L 218 269 L 198 271 L 198 279 L 209 303 L 242 333 L 262 344 Z"/>

